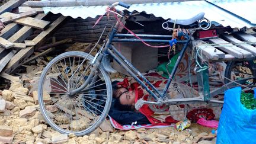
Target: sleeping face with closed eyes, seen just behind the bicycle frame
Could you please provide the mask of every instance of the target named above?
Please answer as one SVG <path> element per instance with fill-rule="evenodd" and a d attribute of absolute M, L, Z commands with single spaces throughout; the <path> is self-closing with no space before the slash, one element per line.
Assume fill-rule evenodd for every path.
<path fill-rule="evenodd" d="M 116 92 L 117 98 L 122 105 L 135 105 L 135 92 L 128 91 L 126 88 L 119 88 Z"/>

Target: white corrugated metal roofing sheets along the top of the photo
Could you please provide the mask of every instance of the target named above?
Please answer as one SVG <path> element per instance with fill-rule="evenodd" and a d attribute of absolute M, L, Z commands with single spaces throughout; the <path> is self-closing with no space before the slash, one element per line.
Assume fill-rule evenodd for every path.
<path fill-rule="evenodd" d="M 238 27 L 256 27 L 256 0 L 229 0 L 229 1 L 184 1 L 184 2 L 164 2 L 152 4 L 133 4 L 129 11 L 146 12 L 155 17 L 162 17 L 165 20 L 188 19 L 199 12 L 204 12 L 210 21 L 222 24 L 223 26 Z M 104 14 L 107 6 L 91 7 L 44 7 L 44 12 L 61 13 L 64 16 L 72 18 L 95 18 L 97 15 Z M 123 10 L 123 7 L 117 6 L 117 9 Z"/>

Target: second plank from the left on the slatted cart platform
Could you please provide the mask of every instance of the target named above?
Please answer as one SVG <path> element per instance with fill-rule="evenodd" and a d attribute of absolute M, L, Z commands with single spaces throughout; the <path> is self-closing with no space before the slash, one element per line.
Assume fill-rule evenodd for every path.
<path fill-rule="evenodd" d="M 219 46 L 217 46 L 217 47 L 219 47 L 219 49 L 237 57 L 238 59 L 252 57 L 252 53 L 250 53 L 246 50 L 243 50 L 239 47 L 233 46 L 233 44 L 231 44 L 228 41 L 225 41 L 223 39 L 216 38 L 216 39 L 209 39 L 209 41 L 211 43 L 219 44 Z"/>

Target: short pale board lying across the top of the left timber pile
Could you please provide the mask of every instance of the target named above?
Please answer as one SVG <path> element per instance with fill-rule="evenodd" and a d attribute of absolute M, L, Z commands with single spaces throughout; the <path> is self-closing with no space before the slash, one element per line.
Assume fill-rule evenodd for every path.
<path fill-rule="evenodd" d="M 21 18 L 20 20 L 14 21 L 14 23 L 37 28 L 39 30 L 45 30 L 46 27 L 50 24 L 49 21 L 38 20 L 36 18 L 31 17 Z"/>

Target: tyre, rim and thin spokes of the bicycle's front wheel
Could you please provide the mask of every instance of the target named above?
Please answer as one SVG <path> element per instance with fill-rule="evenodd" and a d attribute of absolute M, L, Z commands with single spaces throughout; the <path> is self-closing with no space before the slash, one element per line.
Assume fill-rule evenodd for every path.
<path fill-rule="evenodd" d="M 64 73 L 64 74 L 66 74 L 67 72 L 66 72 L 66 69 L 68 68 L 68 62 L 66 63 L 66 61 L 65 61 L 65 59 L 68 57 L 68 59 L 69 60 L 71 60 L 71 58 L 70 57 L 72 57 L 73 58 L 73 61 L 71 62 L 69 62 L 70 63 L 70 67 L 71 68 L 75 68 L 75 64 L 73 65 L 73 67 L 72 67 L 72 63 L 76 63 L 76 61 L 75 60 L 77 60 L 76 58 L 77 57 L 79 57 L 79 60 L 80 59 L 82 59 L 82 58 L 84 58 L 85 59 L 85 61 L 83 60 L 82 62 L 87 62 L 88 61 L 88 63 L 89 62 L 91 62 L 91 60 L 94 58 L 93 56 L 91 56 L 91 55 L 88 55 L 88 53 L 84 53 L 84 52 L 76 52 L 76 51 L 73 51 L 73 52 L 65 52 L 65 53 L 62 53 L 61 55 L 59 55 L 59 56 L 57 56 L 57 57 L 55 57 L 54 59 L 52 59 L 49 63 L 48 63 L 48 65 L 44 68 L 44 70 L 43 70 L 43 72 L 42 72 L 42 74 L 41 74 L 41 77 L 40 77 L 40 81 L 39 81 L 39 89 L 38 89 L 38 95 L 39 95 L 39 105 L 40 105 L 40 111 L 41 111 L 41 114 L 43 114 L 43 117 L 44 117 L 44 119 L 47 121 L 47 123 L 50 125 L 50 126 L 52 126 L 53 127 L 53 129 L 55 129 L 55 130 L 57 130 L 58 132 L 60 132 L 60 133 L 66 133 L 66 134 L 69 134 L 69 133 L 74 133 L 76 136 L 82 136 L 82 135 L 87 135 L 88 133 L 91 133 L 91 132 L 93 132 L 95 129 L 97 129 L 97 127 L 99 127 L 100 126 L 100 124 L 103 122 L 103 120 L 105 120 L 105 118 L 107 117 L 107 114 L 108 114 L 108 111 L 110 110 L 110 106 L 111 106 L 111 100 L 112 100 L 112 87 L 111 87 L 111 81 L 110 81 L 110 77 L 108 76 L 108 73 L 107 72 L 105 72 L 104 71 L 104 69 L 101 67 L 101 66 L 99 66 L 99 68 L 98 68 L 98 72 L 99 72 L 99 77 L 100 77 L 100 80 L 101 81 L 104 81 L 105 82 L 105 97 L 104 96 L 100 96 L 100 97 L 103 97 L 103 99 L 105 98 L 105 105 L 104 106 L 102 106 L 101 104 L 98 104 L 98 105 L 101 105 L 102 107 L 103 107 L 103 110 L 101 111 L 102 113 L 100 114 L 100 116 L 96 116 L 97 114 L 95 114 L 94 113 L 94 111 L 92 111 L 92 109 L 93 108 L 95 108 L 95 107 L 97 107 L 97 105 L 93 105 L 92 104 L 92 101 L 93 100 L 100 100 L 100 98 L 99 99 L 96 99 L 96 98 L 93 98 L 93 97 L 97 97 L 97 94 L 91 94 L 91 93 L 88 93 L 88 95 L 89 94 L 91 94 L 90 96 L 89 96 L 89 99 L 87 98 L 88 96 L 86 96 L 87 95 L 87 93 L 81 93 L 81 94 L 79 94 L 79 95 L 77 95 L 77 94 L 75 94 L 75 96 L 73 97 L 73 100 L 70 100 L 70 99 L 68 99 L 68 98 L 72 98 L 70 95 L 68 95 L 68 91 L 70 91 L 70 89 L 72 89 L 72 88 L 76 88 L 76 87 L 78 87 L 78 85 L 79 85 L 79 83 L 80 83 L 80 81 L 84 81 L 84 79 L 85 79 L 85 77 L 86 76 L 84 76 L 84 74 L 81 74 L 81 76 L 80 77 L 78 77 L 78 75 L 79 75 L 79 72 L 80 72 L 80 69 L 82 68 L 82 67 L 84 67 L 84 64 L 86 64 L 87 66 L 89 66 L 89 67 L 91 67 L 90 65 L 91 64 L 88 64 L 88 63 L 81 63 L 81 64 L 79 64 L 79 62 L 78 62 L 78 64 L 79 64 L 79 66 L 77 67 L 77 70 L 76 71 L 72 71 L 71 70 L 71 72 L 72 72 L 72 76 L 73 75 L 76 75 L 75 74 L 75 72 L 77 72 L 78 74 L 77 74 L 77 76 L 71 76 L 70 77 L 70 79 L 69 79 L 69 76 L 67 75 L 66 76 L 66 79 L 64 78 L 64 76 L 62 75 L 62 73 Z M 61 72 L 61 71 L 59 71 L 59 69 L 61 69 L 61 68 L 59 68 L 59 66 L 56 64 L 57 62 L 60 62 L 60 63 L 62 63 L 62 60 L 64 60 L 65 61 L 65 66 L 67 67 L 63 67 L 62 66 L 62 68 L 64 69 L 64 71 L 63 72 Z M 67 64 L 67 65 L 66 65 Z M 56 68 L 58 69 L 58 71 L 53 71 L 53 69 L 55 68 L 55 65 L 56 65 Z M 70 69 L 71 69 L 70 68 Z M 86 67 L 87 68 L 87 67 Z M 79 71 L 78 71 L 78 69 L 79 69 Z M 52 72 L 57 72 L 56 74 L 57 74 L 57 78 L 52 78 L 52 77 L 50 77 L 49 75 L 50 75 L 50 71 L 52 71 Z M 69 71 L 69 70 L 68 70 Z M 83 70 L 84 71 L 84 70 Z M 89 71 L 89 70 L 88 70 Z M 87 72 L 88 72 L 87 71 Z M 70 72 L 70 71 L 69 71 Z M 89 72 L 91 72 L 91 71 L 89 71 Z M 48 75 L 48 77 L 47 77 L 47 75 Z M 60 76 L 60 75 L 62 75 L 62 76 Z M 49 78 L 50 77 L 50 78 Z M 76 79 L 75 79 L 75 81 L 73 80 L 73 78 L 74 77 L 76 77 Z M 50 80 L 50 82 L 46 82 L 46 78 L 49 78 Z M 61 81 L 59 80 L 59 79 L 61 79 Z M 66 84 L 66 83 L 64 83 L 63 81 L 66 81 L 68 79 L 68 83 Z M 102 80 L 103 79 L 103 80 Z M 98 80 L 98 81 L 100 81 L 100 80 Z M 79 82 L 78 82 L 79 81 Z M 78 82 L 78 84 L 76 84 L 76 82 Z M 54 83 L 54 84 L 56 84 L 56 85 L 53 85 L 52 83 Z M 64 87 L 64 85 L 65 85 L 65 87 L 66 88 L 68 88 L 68 90 Z M 94 85 L 96 85 L 96 84 L 94 84 Z M 49 88 L 49 86 L 50 86 L 50 88 Z M 45 91 L 47 90 L 46 88 L 44 88 L 44 87 L 46 87 L 46 88 L 49 88 L 50 90 L 48 91 L 49 92 L 49 95 L 50 95 L 50 102 L 45 102 L 44 101 L 44 97 L 43 97 L 43 94 L 45 94 Z M 57 88 L 58 87 L 58 88 Z M 97 87 L 100 87 L 100 86 L 97 86 Z M 93 87 L 89 87 L 89 89 L 88 89 L 88 91 L 89 92 L 91 92 L 91 89 L 92 89 Z M 95 87 L 94 87 L 95 88 Z M 60 90 L 61 89 L 61 90 Z M 64 92 L 64 90 L 66 90 L 65 92 Z M 56 94 L 57 92 L 59 92 L 59 96 L 57 97 L 57 101 L 55 101 L 55 103 L 53 104 L 53 99 L 55 98 L 55 96 L 53 96 L 52 97 L 52 95 L 58 95 L 58 94 Z M 96 96 L 95 96 L 96 95 Z M 70 96 L 70 97 L 69 97 Z M 60 97 L 60 98 L 59 98 Z M 55 98 L 56 99 L 56 98 Z M 46 98 L 45 98 L 45 100 L 46 100 Z M 63 109 L 63 110 L 65 110 L 64 112 L 65 112 L 65 114 L 63 114 L 63 112 L 60 112 L 60 113 L 53 113 L 55 116 L 54 116 L 54 118 L 52 119 L 50 116 L 49 116 L 49 111 L 48 110 L 46 110 L 47 108 L 46 108 L 46 105 L 47 104 L 53 104 L 53 105 L 55 105 L 56 103 L 58 103 L 58 101 L 59 101 L 59 104 L 61 104 L 62 103 L 62 101 L 64 101 L 64 100 L 66 100 L 66 101 L 68 101 L 68 100 L 70 100 L 70 102 L 72 103 L 72 109 L 73 109 L 73 105 L 75 105 L 75 104 L 77 104 L 77 105 L 75 105 L 74 106 L 74 110 L 75 110 L 75 117 L 73 117 L 73 113 L 72 113 L 72 109 L 69 109 L 69 110 L 71 110 L 71 111 L 68 111 L 68 110 L 66 110 L 65 108 Z M 71 104 L 70 103 L 70 104 Z M 86 106 L 86 104 L 89 104 L 89 106 L 87 105 Z M 91 104 L 90 104 L 91 103 Z M 96 102 L 95 102 L 96 103 Z M 69 105 L 69 103 L 65 103 L 64 105 L 63 105 L 64 103 L 62 103 L 62 106 L 64 106 L 64 107 L 68 107 L 67 105 Z M 82 106 L 81 106 L 81 104 L 82 104 Z M 96 103 L 97 104 L 97 103 Z M 90 106 L 91 105 L 91 106 Z M 78 106 L 78 107 L 77 107 Z M 94 107 L 93 107 L 94 106 Z M 91 110 L 89 110 L 89 108 L 88 107 L 92 107 L 91 108 Z M 57 107 L 57 108 L 59 108 L 59 107 Z M 82 111 L 82 112 L 84 112 L 84 113 L 78 113 L 78 111 L 79 110 L 76 110 L 76 108 L 78 108 L 80 111 Z M 98 110 L 98 108 L 95 108 L 96 109 L 96 111 Z M 99 108 L 100 109 L 100 108 Z M 59 108 L 59 110 L 58 110 L 58 112 L 59 111 L 63 111 L 63 110 L 61 110 L 61 107 Z M 67 111 L 69 112 L 69 113 L 67 113 Z M 89 111 L 89 112 L 88 112 Z M 89 114 L 92 114 L 92 116 L 94 116 L 94 117 L 90 117 L 90 119 L 88 118 L 88 116 L 89 115 L 87 115 L 88 113 Z M 63 119 L 61 119 L 60 121 L 58 121 L 57 120 L 57 117 L 59 117 L 59 115 L 60 114 L 63 114 Z M 85 114 L 85 116 L 86 116 L 86 118 L 88 118 L 88 119 L 85 119 L 85 116 L 84 116 L 84 120 L 81 120 L 82 118 L 81 118 L 81 115 L 83 115 L 83 114 Z M 64 124 L 66 123 L 66 122 L 63 122 L 63 124 L 62 124 L 62 121 L 65 121 L 66 120 L 66 117 L 68 117 L 68 119 L 70 119 L 70 121 L 69 121 L 69 123 L 68 123 L 68 127 L 70 127 L 70 128 L 63 128 L 63 126 L 64 126 Z M 60 117 L 61 118 L 61 117 Z M 65 118 L 65 119 L 64 119 Z M 76 120 L 74 120 L 74 119 L 76 119 Z M 79 120 L 78 120 L 79 119 Z M 89 123 L 89 126 L 87 127 L 87 124 L 88 124 L 88 120 L 91 120 L 91 122 Z M 83 122 L 84 121 L 84 122 Z M 75 126 L 73 126 L 72 124 L 74 123 L 75 124 L 75 122 L 76 122 L 76 127 Z M 62 125 L 57 125 L 57 124 L 62 124 Z M 81 127 L 85 127 L 86 129 L 84 129 L 84 130 L 80 130 L 80 128 L 79 128 L 79 126 L 78 126 L 78 123 L 80 124 L 79 126 L 81 126 Z M 82 124 L 81 124 L 82 123 Z M 84 124 L 84 123 L 86 123 L 86 124 Z M 92 123 L 92 124 L 91 124 Z M 84 126 L 85 125 L 85 126 Z M 71 128 L 72 127 L 72 128 Z M 75 128 L 76 129 L 78 129 L 77 131 L 73 131 L 73 130 L 75 130 Z"/>

